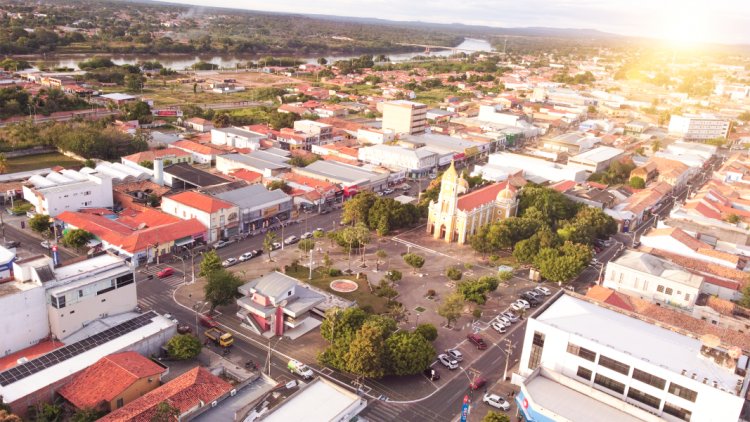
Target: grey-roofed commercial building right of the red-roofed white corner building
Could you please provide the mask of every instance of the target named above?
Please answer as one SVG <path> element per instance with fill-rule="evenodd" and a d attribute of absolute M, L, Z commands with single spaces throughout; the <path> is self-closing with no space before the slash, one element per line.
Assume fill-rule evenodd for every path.
<path fill-rule="evenodd" d="M 233 182 L 202 191 L 223 202 L 237 206 L 239 230 L 253 233 L 257 230 L 288 220 L 294 210 L 294 200 L 281 189 L 268 190 L 263 185 Z"/>

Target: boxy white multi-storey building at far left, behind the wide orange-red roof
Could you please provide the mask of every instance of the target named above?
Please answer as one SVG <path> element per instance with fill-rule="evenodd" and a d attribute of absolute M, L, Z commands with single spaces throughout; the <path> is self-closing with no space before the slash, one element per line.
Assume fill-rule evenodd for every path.
<path fill-rule="evenodd" d="M 112 176 L 108 173 L 112 172 L 84 167 L 80 172 L 66 169 L 31 176 L 23 186 L 23 199 L 34 205 L 37 214 L 50 217 L 81 208 L 112 207 Z"/>

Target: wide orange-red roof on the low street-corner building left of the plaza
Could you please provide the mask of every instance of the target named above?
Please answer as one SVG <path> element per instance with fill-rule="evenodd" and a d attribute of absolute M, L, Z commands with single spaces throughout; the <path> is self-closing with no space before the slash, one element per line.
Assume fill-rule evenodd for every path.
<path fill-rule="evenodd" d="M 56 219 L 75 228 L 84 229 L 110 245 L 130 253 L 145 250 L 151 245 L 164 244 L 190 236 L 200 237 L 206 233 L 206 226 L 194 218 L 180 220 L 158 211 L 151 212 L 166 216 L 163 220 L 170 222 L 150 227 L 146 221 L 156 222 L 157 215 L 121 216 L 114 220 L 97 214 L 74 211 L 65 211 Z M 141 223 L 144 227 L 139 229 Z"/>

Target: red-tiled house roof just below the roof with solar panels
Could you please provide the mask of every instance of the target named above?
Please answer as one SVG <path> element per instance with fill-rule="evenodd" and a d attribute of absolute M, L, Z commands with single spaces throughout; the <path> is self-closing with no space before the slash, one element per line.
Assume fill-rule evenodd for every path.
<path fill-rule="evenodd" d="M 136 352 L 105 356 L 76 375 L 58 393 L 79 409 L 97 408 L 111 402 L 136 381 L 155 377 L 166 371 Z M 158 378 L 152 380 L 158 383 Z M 156 385 L 156 384 L 155 384 Z"/>

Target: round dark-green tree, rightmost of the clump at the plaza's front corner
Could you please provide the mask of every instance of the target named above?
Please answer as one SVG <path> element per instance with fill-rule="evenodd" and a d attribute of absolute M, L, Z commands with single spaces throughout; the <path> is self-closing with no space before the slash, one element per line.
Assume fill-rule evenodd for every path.
<path fill-rule="evenodd" d="M 435 358 L 435 348 L 416 332 L 399 331 L 388 337 L 385 346 L 389 372 L 394 375 L 418 374 Z"/>

